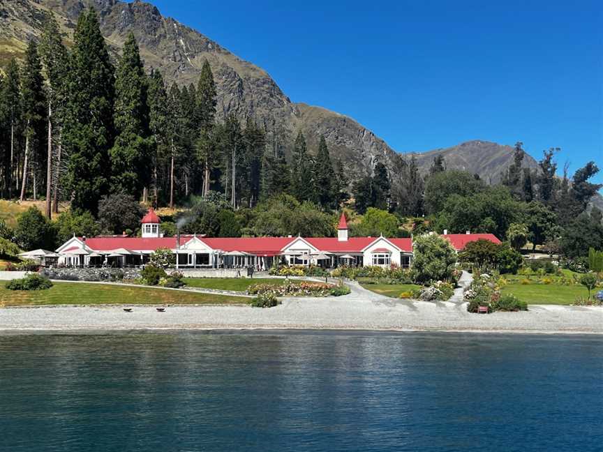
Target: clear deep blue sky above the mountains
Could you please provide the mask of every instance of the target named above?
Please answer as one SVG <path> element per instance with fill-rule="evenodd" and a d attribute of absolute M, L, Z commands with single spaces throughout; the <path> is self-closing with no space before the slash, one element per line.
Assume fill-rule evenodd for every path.
<path fill-rule="evenodd" d="M 153 3 L 396 151 L 521 141 L 603 172 L 601 1 Z"/>

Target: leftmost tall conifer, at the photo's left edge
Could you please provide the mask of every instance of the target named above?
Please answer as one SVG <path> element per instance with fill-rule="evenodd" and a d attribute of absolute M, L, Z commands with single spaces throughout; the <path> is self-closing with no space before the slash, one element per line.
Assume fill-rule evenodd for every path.
<path fill-rule="evenodd" d="M 17 61 L 13 58 L 8 62 L 6 68 L 6 78 L 3 83 L 3 89 L 0 93 L 3 106 L 3 116 L 6 121 L 6 163 L 4 186 L 6 195 L 11 197 L 13 190 L 19 185 L 19 176 L 15 173 L 17 169 L 17 153 L 19 149 L 22 123 L 22 96 L 21 96 L 21 77 L 20 68 Z"/>

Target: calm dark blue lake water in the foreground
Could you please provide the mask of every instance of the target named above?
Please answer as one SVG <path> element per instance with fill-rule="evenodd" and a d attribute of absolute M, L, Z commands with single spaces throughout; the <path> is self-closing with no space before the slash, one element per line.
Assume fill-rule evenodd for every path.
<path fill-rule="evenodd" d="M 0 336 L 0 451 L 602 450 L 596 336 Z"/>

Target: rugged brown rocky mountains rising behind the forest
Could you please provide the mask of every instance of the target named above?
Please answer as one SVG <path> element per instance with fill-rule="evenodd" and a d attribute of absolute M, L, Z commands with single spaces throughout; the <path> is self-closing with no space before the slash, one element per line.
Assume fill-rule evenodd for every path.
<path fill-rule="evenodd" d="M 298 131 L 304 133 L 308 149 L 318 148 L 324 135 L 334 160 L 341 160 L 350 181 L 367 174 L 375 161 L 392 168 L 396 153 L 354 119 L 321 107 L 293 103 L 270 75 L 224 47 L 170 17 L 150 3 L 117 0 L 0 0 L 0 67 L 16 55 L 22 57 L 27 40 L 39 36 L 45 17 L 54 13 L 64 40 L 70 45 L 77 17 L 84 8 L 98 10 L 101 30 L 117 57 L 126 36 L 133 31 L 147 68 L 161 70 L 168 82 L 195 83 L 204 59 L 209 61 L 218 90 L 218 118 L 230 113 L 241 119 L 251 116 L 267 130 L 271 149 L 286 149 Z M 496 183 L 512 163 L 511 146 L 474 140 L 446 149 L 415 153 L 422 172 L 433 158 L 443 155 L 450 169 L 465 169 Z M 526 156 L 524 165 L 537 167 Z M 600 200 L 602 201 L 603 198 Z M 602 203 L 603 204 L 603 203 Z"/>

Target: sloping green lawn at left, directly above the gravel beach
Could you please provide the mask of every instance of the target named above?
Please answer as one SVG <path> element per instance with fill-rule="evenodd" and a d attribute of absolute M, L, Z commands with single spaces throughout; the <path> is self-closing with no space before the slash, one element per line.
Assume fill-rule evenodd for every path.
<path fill-rule="evenodd" d="M 124 287 L 85 283 L 54 283 L 47 290 L 13 291 L 0 283 L 0 306 L 62 304 L 237 304 L 251 299 L 239 296 L 195 294 L 149 287 Z"/>

